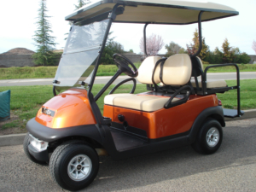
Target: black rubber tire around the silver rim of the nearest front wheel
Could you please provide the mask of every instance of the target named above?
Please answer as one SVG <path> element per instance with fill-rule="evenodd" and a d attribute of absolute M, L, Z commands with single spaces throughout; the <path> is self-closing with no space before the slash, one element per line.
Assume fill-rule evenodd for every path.
<path fill-rule="evenodd" d="M 68 167 L 70 167 L 69 163 L 72 162 L 74 157 L 83 155 L 85 155 L 86 158 L 89 157 L 90 159 L 90 168 L 88 168 L 88 170 L 90 171 L 86 173 L 86 176 L 84 175 L 84 178 L 81 178 L 82 180 L 76 181 L 74 180 L 74 178 L 72 178 L 72 176 L 70 176 L 71 173 L 68 173 Z M 78 166 L 73 166 L 73 169 L 75 167 Z M 84 170 L 82 171 L 85 172 Z M 79 143 L 71 141 L 61 144 L 60 146 L 55 148 L 55 151 L 53 152 L 49 160 L 49 172 L 55 182 L 58 183 L 61 188 L 71 191 L 76 191 L 87 187 L 95 179 L 98 170 L 99 157 L 96 153 L 96 150 L 94 148 L 91 148 L 86 143 L 82 142 Z M 72 174 L 75 174 L 76 172 L 78 171 L 75 170 L 75 172 L 73 172 Z M 79 172 L 79 175 L 82 175 L 82 172 Z"/>

